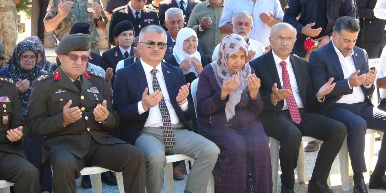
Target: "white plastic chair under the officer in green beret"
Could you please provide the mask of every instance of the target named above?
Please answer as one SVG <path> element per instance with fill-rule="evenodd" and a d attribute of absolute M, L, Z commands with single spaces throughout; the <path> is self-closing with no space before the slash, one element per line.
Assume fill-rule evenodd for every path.
<path fill-rule="evenodd" d="M 80 175 L 81 176 L 90 175 L 91 187 L 93 188 L 93 193 L 102 193 L 102 177 L 100 176 L 100 174 L 107 171 L 110 171 L 110 170 L 106 168 L 97 167 L 97 166 L 86 167 L 80 171 Z M 51 166 L 51 172 L 52 172 L 52 166 Z M 116 174 L 115 177 L 117 178 L 118 191 L 119 193 L 124 193 L 125 191 L 123 186 L 122 172 L 117 172 L 115 174 Z"/>

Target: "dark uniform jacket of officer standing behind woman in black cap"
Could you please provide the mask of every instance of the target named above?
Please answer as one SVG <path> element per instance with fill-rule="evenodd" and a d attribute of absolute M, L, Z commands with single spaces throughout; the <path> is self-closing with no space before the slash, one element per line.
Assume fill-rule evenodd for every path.
<path fill-rule="evenodd" d="M 157 11 L 149 7 L 149 5 L 145 5 L 145 7 L 141 10 L 141 18 L 139 20 L 139 23 L 137 22 L 133 13 L 131 12 L 129 4 L 123 7 L 118 7 L 114 9 L 113 12 L 111 13 L 111 21 L 110 21 L 110 28 L 109 28 L 110 33 L 108 34 L 108 41 L 110 42 L 111 45 L 115 46 L 115 40 L 113 36 L 115 25 L 125 20 L 133 23 L 135 37 L 139 36 L 139 32 L 147 25 L 159 25 Z"/>

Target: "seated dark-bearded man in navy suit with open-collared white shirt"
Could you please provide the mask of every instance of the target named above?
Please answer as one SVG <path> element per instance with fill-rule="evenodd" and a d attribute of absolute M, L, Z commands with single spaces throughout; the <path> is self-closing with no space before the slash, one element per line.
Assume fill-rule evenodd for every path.
<path fill-rule="evenodd" d="M 329 78 L 335 89 L 326 95 L 320 112 L 347 127 L 347 146 L 354 171 L 354 193 L 367 193 L 363 172 L 366 172 L 364 145 L 366 129 L 385 131 L 386 112 L 373 107 L 369 96 L 374 91 L 376 72 L 369 69 L 366 51 L 354 46 L 359 32 L 358 22 L 348 16 L 337 19 L 332 41 L 313 51 L 309 65 L 314 90 Z M 378 163 L 370 177 L 369 188 L 386 188 L 386 142 L 383 138 Z"/>

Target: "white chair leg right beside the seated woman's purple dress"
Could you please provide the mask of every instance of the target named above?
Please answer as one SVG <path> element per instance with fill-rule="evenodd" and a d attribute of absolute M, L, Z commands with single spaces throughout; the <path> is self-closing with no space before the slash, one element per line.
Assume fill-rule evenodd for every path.
<path fill-rule="evenodd" d="M 271 152 L 273 193 L 278 193 L 278 172 L 279 172 L 279 141 L 269 137 L 269 151 Z"/>

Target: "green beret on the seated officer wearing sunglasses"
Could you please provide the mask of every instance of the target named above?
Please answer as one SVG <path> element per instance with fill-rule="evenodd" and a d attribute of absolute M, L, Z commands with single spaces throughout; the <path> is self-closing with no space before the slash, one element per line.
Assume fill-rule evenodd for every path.
<path fill-rule="evenodd" d="M 56 54 L 67 54 L 71 51 L 88 51 L 90 50 L 90 35 L 87 34 L 74 34 L 69 35 L 60 41 L 56 46 Z"/>

